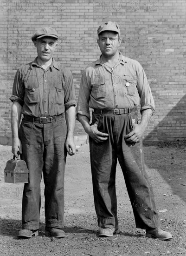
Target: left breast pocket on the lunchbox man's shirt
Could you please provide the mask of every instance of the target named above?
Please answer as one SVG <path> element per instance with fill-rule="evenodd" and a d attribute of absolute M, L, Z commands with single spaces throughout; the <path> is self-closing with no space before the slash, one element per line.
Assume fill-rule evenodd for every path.
<path fill-rule="evenodd" d="M 24 101 L 27 104 L 37 104 L 39 102 L 39 90 L 38 87 L 25 87 Z"/>

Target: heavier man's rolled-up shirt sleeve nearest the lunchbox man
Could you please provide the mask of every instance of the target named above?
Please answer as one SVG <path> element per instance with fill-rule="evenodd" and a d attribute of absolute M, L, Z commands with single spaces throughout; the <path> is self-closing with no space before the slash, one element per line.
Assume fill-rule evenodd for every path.
<path fill-rule="evenodd" d="M 87 75 L 87 69 L 83 71 L 81 76 L 81 83 L 79 88 L 79 97 L 77 101 L 77 120 L 78 114 L 85 115 L 90 120 L 90 110 L 89 110 L 89 101 L 90 101 L 90 81 Z"/>

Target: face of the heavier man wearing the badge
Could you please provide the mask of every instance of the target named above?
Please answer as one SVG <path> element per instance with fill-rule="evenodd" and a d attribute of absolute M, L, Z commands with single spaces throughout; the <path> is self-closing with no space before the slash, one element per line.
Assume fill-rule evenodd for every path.
<path fill-rule="evenodd" d="M 118 36 L 119 34 L 111 31 L 105 31 L 99 35 L 97 43 L 103 55 L 114 56 L 118 52 L 121 45 L 121 39 Z"/>

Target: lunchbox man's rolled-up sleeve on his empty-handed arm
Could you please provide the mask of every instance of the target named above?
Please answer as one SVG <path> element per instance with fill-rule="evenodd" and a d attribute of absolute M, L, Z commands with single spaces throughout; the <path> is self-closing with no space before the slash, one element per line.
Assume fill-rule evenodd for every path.
<path fill-rule="evenodd" d="M 76 106 L 73 77 L 72 77 L 71 71 L 68 69 L 65 70 L 64 81 L 65 81 L 64 108 L 66 110 L 71 106 Z"/>

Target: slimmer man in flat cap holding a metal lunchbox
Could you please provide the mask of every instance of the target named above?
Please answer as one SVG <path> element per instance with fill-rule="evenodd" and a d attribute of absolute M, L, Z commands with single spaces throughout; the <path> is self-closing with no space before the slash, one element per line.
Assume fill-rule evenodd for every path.
<path fill-rule="evenodd" d="M 15 75 L 12 105 L 12 152 L 25 160 L 29 182 L 22 201 L 19 238 L 38 236 L 40 182 L 45 183 L 45 235 L 64 237 L 64 168 L 74 155 L 75 92 L 72 74 L 53 59 L 58 33 L 38 29 L 32 41 L 38 56 Z M 23 119 L 20 124 L 21 115 Z M 19 126 L 20 124 L 20 126 Z"/>

